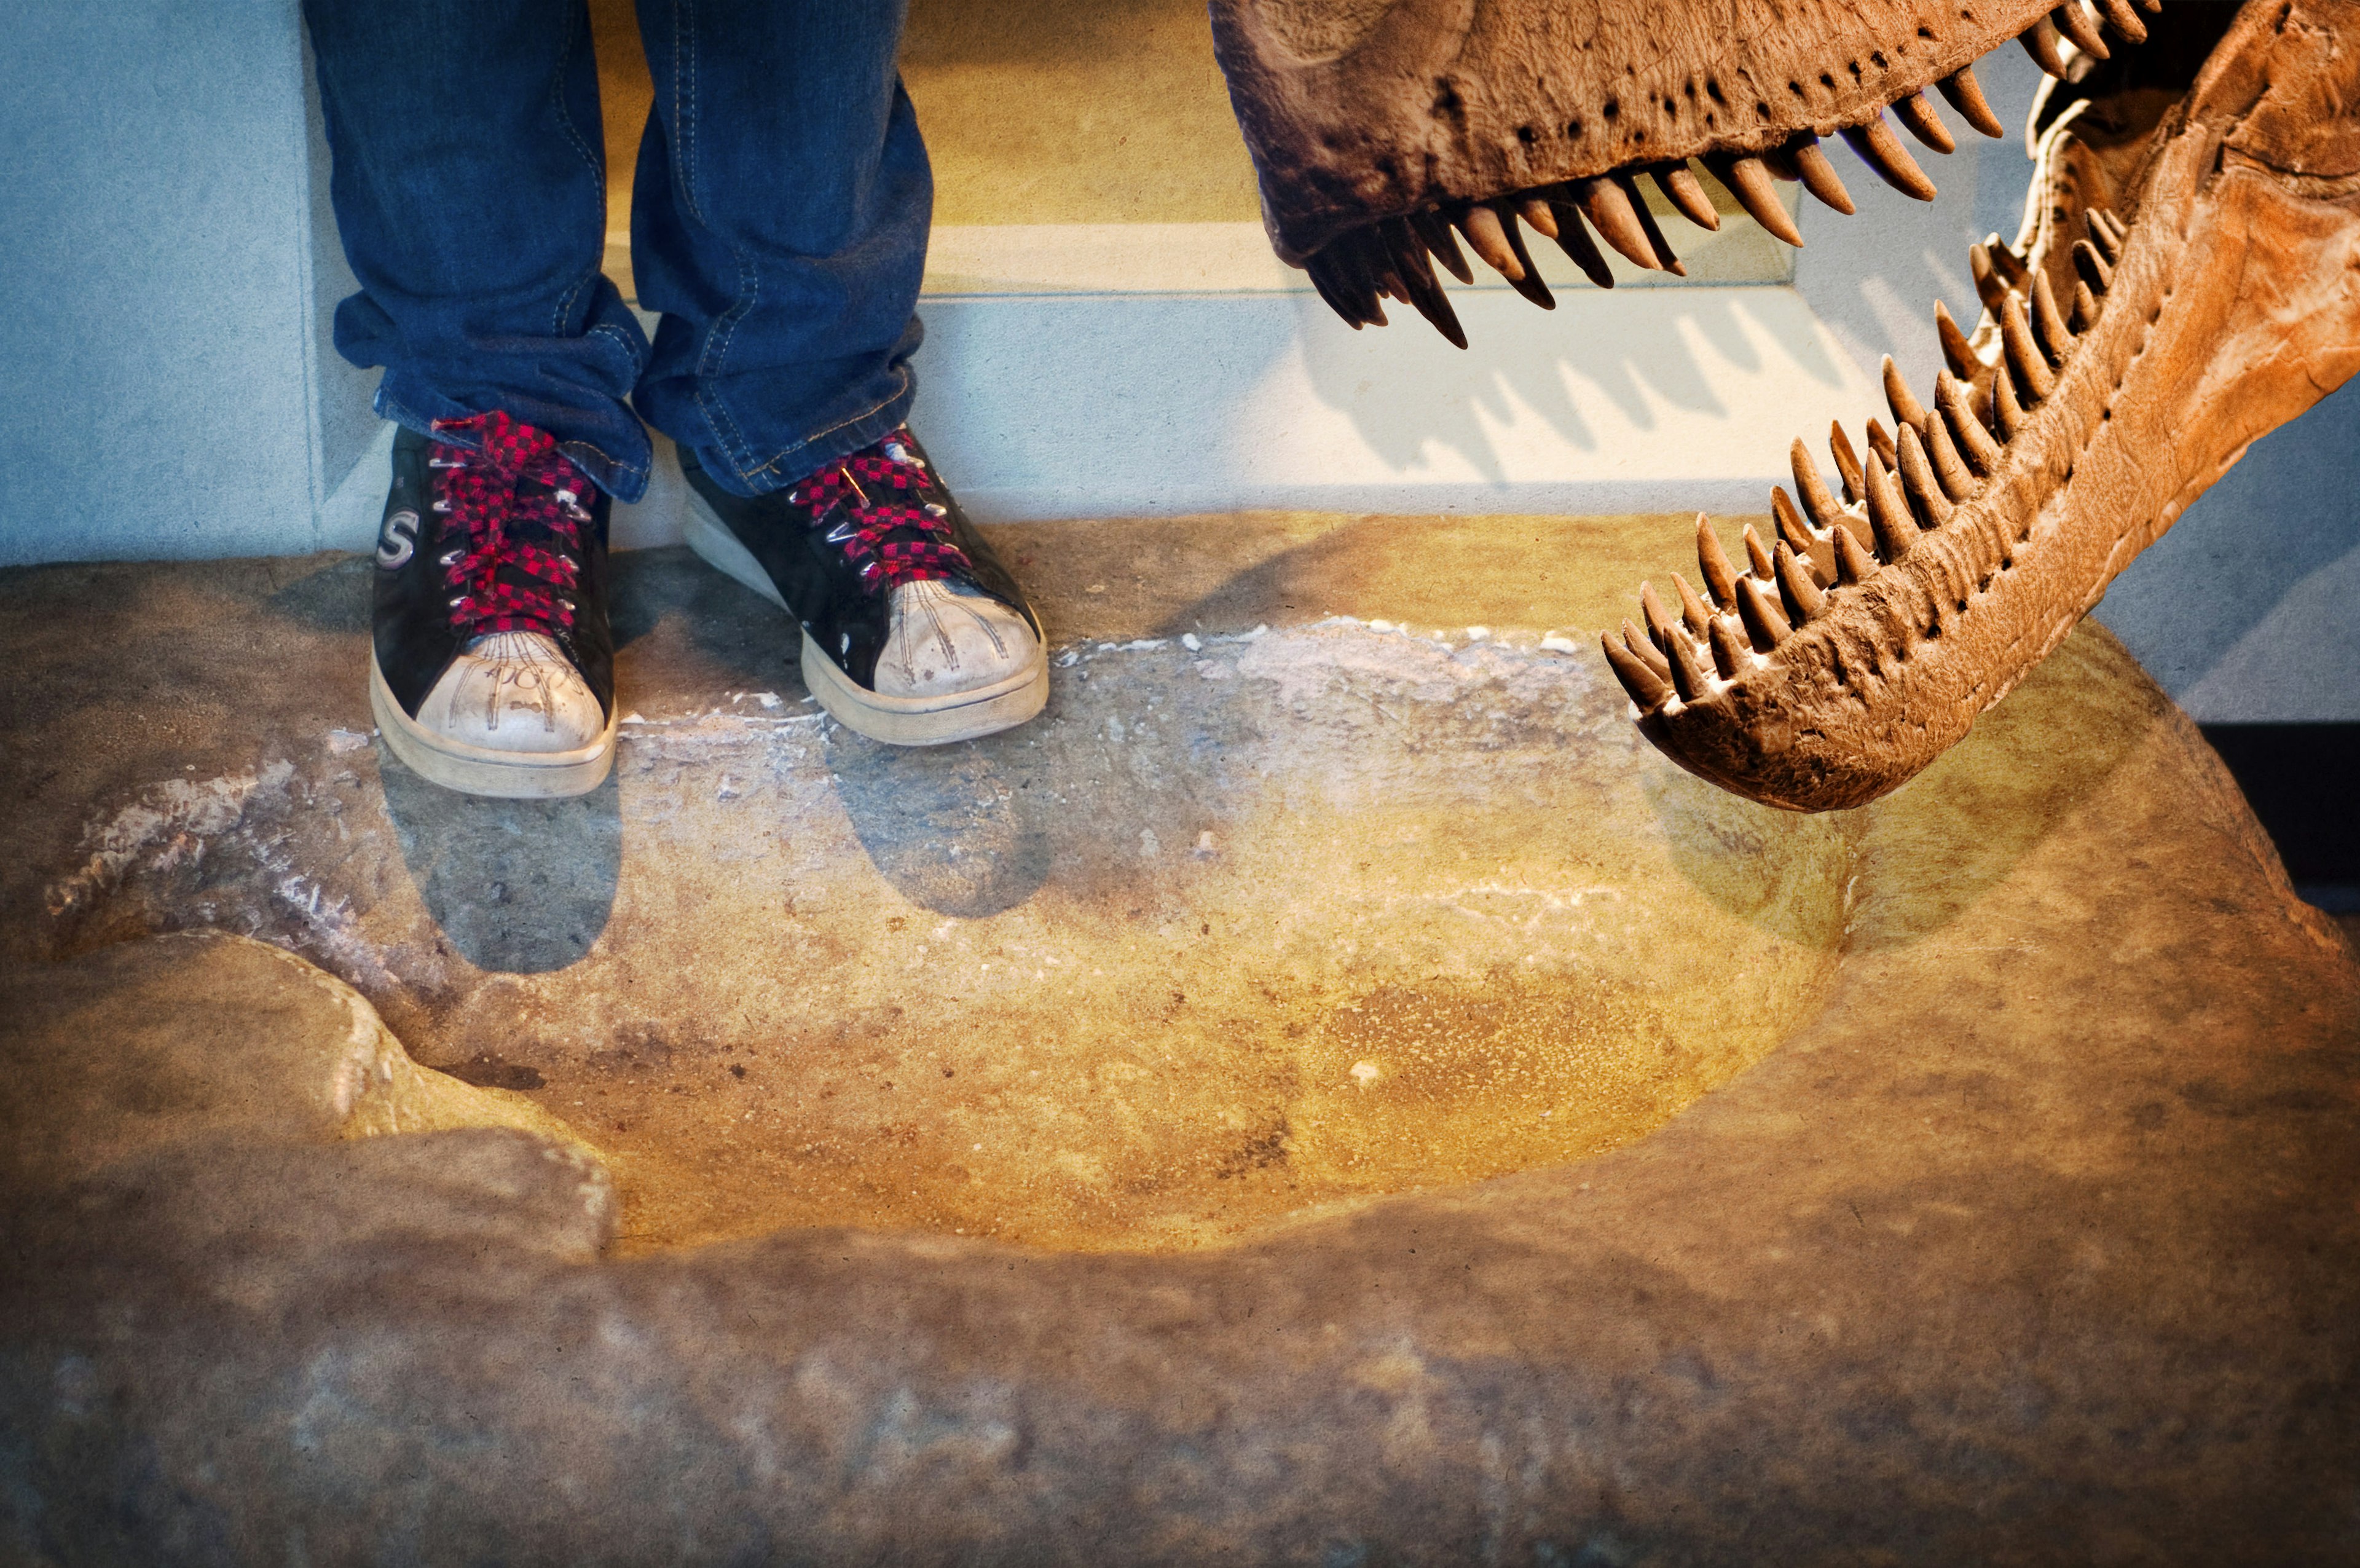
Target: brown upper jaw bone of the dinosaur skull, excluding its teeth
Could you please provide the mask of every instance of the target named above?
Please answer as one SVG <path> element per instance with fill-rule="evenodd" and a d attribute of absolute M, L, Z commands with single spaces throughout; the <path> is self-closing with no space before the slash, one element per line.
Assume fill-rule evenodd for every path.
<path fill-rule="evenodd" d="M 2082 0 L 2074 0 L 2077 5 Z M 1213 0 L 1272 239 L 1916 116 L 2053 0 Z M 2129 0 L 2105 0 L 2133 17 Z M 2131 26 L 2138 26 L 2136 21 Z M 1930 113 L 1930 111 L 1928 111 Z M 1938 116 L 1935 116 L 1938 118 Z M 1883 135 L 1890 135 L 1886 130 Z"/>

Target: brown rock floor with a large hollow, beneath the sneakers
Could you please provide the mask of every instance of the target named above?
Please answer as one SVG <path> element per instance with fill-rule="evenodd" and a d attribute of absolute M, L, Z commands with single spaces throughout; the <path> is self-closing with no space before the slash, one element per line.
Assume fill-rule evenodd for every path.
<path fill-rule="evenodd" d="M 2360 968 L 2100 628 L 1805 819 L 1595 668 L 1676 520 L 996 536 L 1050 711 L 923 753 L 621 557 L 573 803 L 380 753 L 361 562 L 0 574 L 0 1483 L 45 1551 L 186 1509 L 328 1559 L 2348 1544 Z M 182 1030 L 163 930 L 300 954 L 406 1056 L 260 947 Z"/>

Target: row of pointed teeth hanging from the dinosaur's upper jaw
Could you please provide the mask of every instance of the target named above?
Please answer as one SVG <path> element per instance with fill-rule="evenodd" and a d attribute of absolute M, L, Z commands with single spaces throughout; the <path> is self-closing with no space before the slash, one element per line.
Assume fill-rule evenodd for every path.
<path fill-rule="evenodd" d="M 2138 0 L 2138 5 L 2150 12 L 2162 9 L 2162 0 Z M 2025 28 L 2020 43 L 2039 61 L 2041 71 L 2063 80 L 2074 54 L 2107 59 L 2107 31 L 2133 45 L 2148 38 L 2148 28 L 2138 19 L 2138 12 L 2131 9 L 2131 0 L 2067 0 Z M 1954 76 L 1942 78 L 1938 87 L 1968 125 L 1987 137 L 2006 135 L 1989 102 L 1985 102 L 1982 87 L 1975 83 L 1973 66 L 1961 66 Z M 1897 99 L 1890 109 L 1926 146 L 1938 153 L 1956 149 L 1956 139 L 1949 135 L 1942 116 L 1935 113 L 1921 92 Z M 1862 125 L 1843 128 L 1841 135 L 1886 184 L 1919 201 L 1933 201 L 1933 179 L 1926 177 L 1926 170 L 1916 165 L 1909 149 L 1893 135 L 1893 125 L 1886 123 L 1883 111 Z M 1827 205 L 1846 215 L 1853 213 L 1853 196 L 1843 189 L 1843 179 L 1836 177 L 1836 165 L 1829 163 L 1820 137 L 1808 130 L 1798 132 L 1775 153 L 1709 153 L 1702 163 L 1728 187 L 1730 196 L 1753 222 L 1789 246 L 1801 246 L 1803 234 L 1777 198 L 1779 179 L 1798 179 L 1805 191 Z M 1598 250 L 1598 239 L 1635 267 L 1687 276 L 1687 267 L 1673 255 L 1664 241 L 1664 229 L 1654 222 L 1654 213 L 1647 210 L 1647 198 L 1638 189 L 1640 175 L 1647 175 L 1664 191 L 1664 198 L 1692 224 L 1702 229 L 1720 227 L 1713 198 L 1685 161 L 1645 163 L 1591 179 L 1534 187 L 1492 201 L 1388 217 L 1336 236 L 1305 262 L 1305 269 L 1319 298 L 1352 324 L 1352 331 L 1385 326 L 1381 300 L 1392 298 L 1425 316 L 1454 345 L 1466 347 L 1468 335 L 1458 326 L 1458 312 L 1451 309 L 1449 295 L 1442 290 L 1442 281 L 1433 267 L 1442 262 L 1442 269 L 1454 279 L 1473 283 L 1475 272 L 1458 248 L 1461 239 L 1468 250 L 1541 309 L 1555 309 L 1558 300 L 1548 293 L 1548 283 L 1541 281 L 1539 267 L 1532 264 L 1532 250 L 1525 246 L 1520 224 L 1529 224 L 1541 236 L 1558 241 L 1565 255 L 1598 288 L 1614 288 L 1614 274 Z M 1598 239 L 1591 239 L 1591 229 L 1598 231 Z"/>

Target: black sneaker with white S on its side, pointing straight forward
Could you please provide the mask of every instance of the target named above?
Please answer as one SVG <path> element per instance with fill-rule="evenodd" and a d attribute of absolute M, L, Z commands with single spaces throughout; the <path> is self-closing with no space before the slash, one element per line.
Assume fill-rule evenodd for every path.
<path fill-rule="evenodd" d="M 411 772 L 581 796 L 614 767 L 607 496 L 505 413 L 394 435 L 368 706 Z M 585 505 L 588 503 L 588 505 Z"/>

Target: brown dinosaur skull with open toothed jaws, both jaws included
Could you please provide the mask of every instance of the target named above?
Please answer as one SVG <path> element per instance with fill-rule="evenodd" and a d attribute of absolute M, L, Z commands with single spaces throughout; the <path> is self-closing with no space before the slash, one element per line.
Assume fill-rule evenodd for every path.
<path fill-rule="evenodd" d="M 1279 253 L 1355 326 L 1381 298 L 1466 342 L 1433 260 L 1458 239 L 1551 295 L 1520 224 L 1600 286 L 1595 239 L 1678 269 L 1640 198 L 1713 224 L 1690 158 L 1801 243 L 1772 189 L 1850 210 L 1822 137 L 1914 196 L 1895 137 L 1999 135 L 1971 61 L 2023 38 L 2034 203 L 1971 262 L 1985 316 L 1935 314 L 1949 371 L 1895 432 L 1794 446 L 1768 545 L 1699 517 L 1702 590 L 1640 590 L 1605 640 L 1640 730 L 1794 810 L 1907 782 L 2053 649 L 2244 449 L 2360 368 L 2360 0 L 1213 0 Z M 1595 229 L 1595 239 L 1593 231 Z M 1841 489 L 1841 501 L 1836 496 Z"/>

